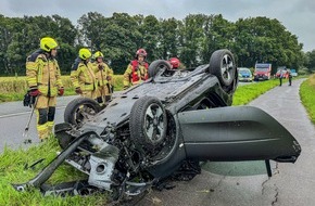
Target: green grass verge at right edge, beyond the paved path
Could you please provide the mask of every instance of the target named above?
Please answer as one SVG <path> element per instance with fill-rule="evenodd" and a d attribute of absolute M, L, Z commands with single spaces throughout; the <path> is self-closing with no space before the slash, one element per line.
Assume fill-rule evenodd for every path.
<path fill-rule="evenodd" d="M 315 75 L 310 76 L 307 80 L 302 82 L 300 96 L 310 119 L 315 124 Z"/>

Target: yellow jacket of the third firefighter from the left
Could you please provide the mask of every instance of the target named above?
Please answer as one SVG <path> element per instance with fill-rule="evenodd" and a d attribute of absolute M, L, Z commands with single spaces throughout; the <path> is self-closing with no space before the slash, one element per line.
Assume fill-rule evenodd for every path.
<path fill-rule="evenodd" d="M 113 70 L 109 67 L 108 64 L 104 62 L 98 63 L 94 62 L 92 63 L 93 66 L 93 72 L 96 74 L 96 77 L 98 79 L 98 85 L 99 86 L 106 86 L 108 83 L 113 85 Z"/>

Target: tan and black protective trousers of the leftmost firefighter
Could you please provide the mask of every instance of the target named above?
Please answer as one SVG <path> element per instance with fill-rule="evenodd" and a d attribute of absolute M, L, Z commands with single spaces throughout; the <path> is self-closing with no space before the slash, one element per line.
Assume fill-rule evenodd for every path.
<path fill-rule="evenodd" d="M 36 104 L 37 132 L 40 140 L 47 139 L 52 133 L 55 114 L 55 96 L 39 95 Z"/>

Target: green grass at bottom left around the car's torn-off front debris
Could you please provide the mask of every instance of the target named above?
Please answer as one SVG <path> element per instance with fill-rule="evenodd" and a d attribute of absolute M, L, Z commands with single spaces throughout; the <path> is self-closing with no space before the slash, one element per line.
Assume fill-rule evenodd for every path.
<path fill-rule="evenodd" d="M 11 183 L 23 183 L 36 177 L 36 175 L 52 160 L 60 150 L 55 139 L 34 145 L 28 150 L 4 149 L 0 155 L 0 205 L 104 205 L 106 194 L 89 196 L 42 196 L 39 190 L 17 192 Z M 36 160 L 45 158 L 35 169 L 25 169 L 25 165 L 32 165 Z M 84 179 L 85 175 L 73 167 L 63 164 L 60 166 L 48 182 L 59 183 Z"/>

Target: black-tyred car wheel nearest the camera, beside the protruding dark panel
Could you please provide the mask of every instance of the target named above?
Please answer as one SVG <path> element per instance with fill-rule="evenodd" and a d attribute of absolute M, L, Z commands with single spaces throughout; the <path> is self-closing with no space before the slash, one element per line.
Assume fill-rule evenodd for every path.
<path fill-rule="evenodd" d="M 158 98 L 137 100 L 130 112 L 131 140 L 146 150 L 156 149 L 164 140 L 167 129 L 166 112 Z"/>

